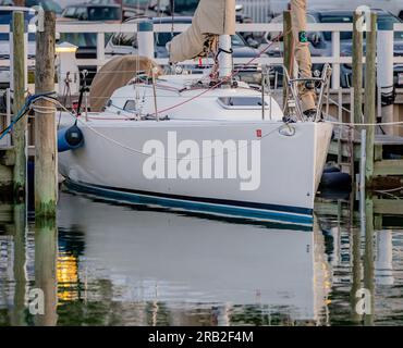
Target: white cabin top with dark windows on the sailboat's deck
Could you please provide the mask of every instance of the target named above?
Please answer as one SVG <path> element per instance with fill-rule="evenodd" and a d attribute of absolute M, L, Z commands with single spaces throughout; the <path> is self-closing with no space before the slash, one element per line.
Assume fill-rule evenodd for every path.
<path fill-rule="evenodd" d="M 148 83 L 129 84 L 117 89 L 105 113 L 131 117 L 155 115 L 170 120 L 261 121 L 261 91 L 237 82 L 236 87 L 212 88 L 204 75 L 163 75 L 154 86 Z M 269 95 L 265 96 L 265 120 L 281 121 L 282 110 Z"/>

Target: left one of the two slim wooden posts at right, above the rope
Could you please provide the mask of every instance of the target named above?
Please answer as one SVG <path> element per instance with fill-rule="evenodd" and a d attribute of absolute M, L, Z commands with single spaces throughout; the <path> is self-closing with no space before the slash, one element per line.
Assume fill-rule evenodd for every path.
<path fill-rule="evenodd" d="M 363 29 L 359 21 L 363 14 L 354 12 L 353 20 L 353 88 L 354 123 L 363 123 Z"/>

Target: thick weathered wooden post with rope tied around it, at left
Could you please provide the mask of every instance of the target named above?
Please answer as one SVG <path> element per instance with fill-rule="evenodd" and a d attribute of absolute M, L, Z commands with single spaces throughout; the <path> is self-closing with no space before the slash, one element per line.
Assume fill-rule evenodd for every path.
<path fill-rule="evenodd" d="M 36 95 L 54 90 L 56 16 L 50 11 L 44 15 L 44 32 L 36 34 Z M 38 100 L 36 107 L 35 214 L 37 217 L 52 217 L 58 197 L 56 107 L 47 100 Z"/>

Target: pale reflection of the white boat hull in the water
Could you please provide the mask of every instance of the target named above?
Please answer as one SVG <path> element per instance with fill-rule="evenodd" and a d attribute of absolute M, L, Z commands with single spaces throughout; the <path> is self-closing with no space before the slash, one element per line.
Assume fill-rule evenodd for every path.
<path fill-rule="evenodd" d="M 70 194 L 58 224 L 60 323 L 80 323 L 81 299 L 95 324 L 326 324 L 317 224 L 229 223 Z"/>

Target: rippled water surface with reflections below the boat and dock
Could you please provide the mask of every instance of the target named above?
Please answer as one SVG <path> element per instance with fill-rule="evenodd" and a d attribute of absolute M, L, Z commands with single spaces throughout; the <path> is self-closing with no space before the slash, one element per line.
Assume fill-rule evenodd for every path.
<path fill-rule="evenodd" d="M 349 201 L 313 228 L 69 192 L 57 226 L 24 216 L 0 208 L 0 325 L 403 324 L 403 223 Z"/>

